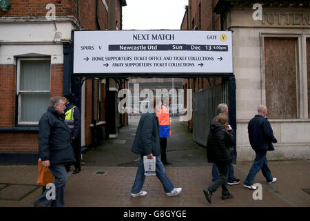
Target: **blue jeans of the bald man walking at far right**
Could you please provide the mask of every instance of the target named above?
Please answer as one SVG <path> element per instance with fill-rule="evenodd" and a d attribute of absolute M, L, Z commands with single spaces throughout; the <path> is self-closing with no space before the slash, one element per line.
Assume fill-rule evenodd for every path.
<path fill-rule="evenodd" d="M 267 166 L 267 158 L 266 158 L 267 151 L 255 151 L 255 153 L 256 157 L 254 163 L 251 166 L 249 174 L 247 175 L 247 179 L 245 179 L 245 182 L 243 182 L 243 184 L 247 186 L 251 186 L 251 184 L 254 182 L 256 173 L 258 173 L 258 171 L 260 170 L 262 170 L 262 175 L 264 175 L 267 182 L 272 181 L 271 172 Z"/>

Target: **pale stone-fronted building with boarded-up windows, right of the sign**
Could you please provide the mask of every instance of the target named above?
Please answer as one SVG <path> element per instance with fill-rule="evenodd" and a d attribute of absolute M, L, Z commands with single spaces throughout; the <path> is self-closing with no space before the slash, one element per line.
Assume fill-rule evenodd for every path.
<path fill-rule="evenodd" d="M 269 158 L 309 159 L 310 1 L 189 0 L 181 28 L 232 31 L 238 160 L 253 160 L 247 123 L 259 104 L 278 139 Z M 198 93 L 220 81 L 184 79 L 183 87 Z"/>

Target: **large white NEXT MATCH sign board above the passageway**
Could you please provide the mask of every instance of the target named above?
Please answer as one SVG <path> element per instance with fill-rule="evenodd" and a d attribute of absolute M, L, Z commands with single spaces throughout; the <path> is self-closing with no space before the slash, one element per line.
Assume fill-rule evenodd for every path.
<path fill-rule="evenodd" d="M 231 32 L 74 32 L 74 74 L 233 73 Z"/>

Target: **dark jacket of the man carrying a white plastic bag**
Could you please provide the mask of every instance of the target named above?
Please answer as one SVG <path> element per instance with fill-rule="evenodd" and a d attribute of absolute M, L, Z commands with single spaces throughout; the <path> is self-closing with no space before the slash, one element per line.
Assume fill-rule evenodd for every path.
<path fill-rule="evenodd" d="M 156 157 L 161 155 L 158 117 L 155 113 L 145 113 L 141 116 L 138 128 L 136 129 L 132 152 L 141 155 L 153 153 Z"/>

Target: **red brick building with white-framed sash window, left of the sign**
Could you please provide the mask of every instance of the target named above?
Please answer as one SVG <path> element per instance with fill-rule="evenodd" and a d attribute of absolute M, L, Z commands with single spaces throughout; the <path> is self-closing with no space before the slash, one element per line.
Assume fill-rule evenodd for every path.
<path fill-rule="evenodd" d="M 105 0 L 6 3 L 0 10 L 0 162 L 37 161 L 39 118 L 50 97 L 69 92 L 81 110 L 81 144 L 94 144 L 96 124 L 110 123 L 106 82 L 125 88 L 127 80 L 73 77 L 72 31 L 121 30 L 126 1 L 111 1 L 110 8 Z M 126 124 L 125 116 L 115 117 Z"/>

